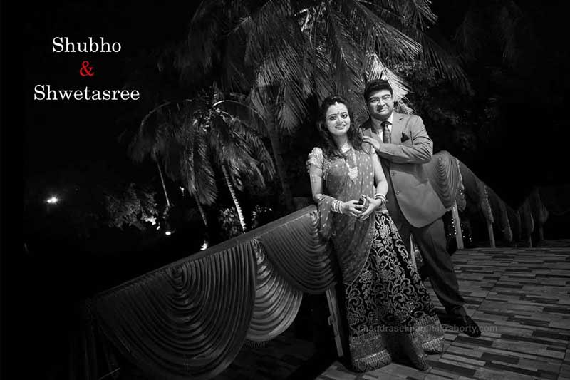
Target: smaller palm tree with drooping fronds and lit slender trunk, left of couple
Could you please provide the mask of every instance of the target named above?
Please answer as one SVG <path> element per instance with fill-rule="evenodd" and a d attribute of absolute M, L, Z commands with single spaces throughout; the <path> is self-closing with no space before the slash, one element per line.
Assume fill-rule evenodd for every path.
<path fill-rule="evenodd" d="M 230 101 L 220 101 L 214 91 L 214 96 L 163 103 L 143 118 L 130 155 L 138 161 L 150 155 L 157 163 L 162 158 L 165 173 L 182 181 L 195 198 L 206 227 L 202 205 L 217 200 L 216 171 L 221 171 L 245 231 L 235 188 L 243 190 L 244 178 L 264 185 L 266 178 L 273 178 L 274 166 L 255 126 L 223 110 Z"/>

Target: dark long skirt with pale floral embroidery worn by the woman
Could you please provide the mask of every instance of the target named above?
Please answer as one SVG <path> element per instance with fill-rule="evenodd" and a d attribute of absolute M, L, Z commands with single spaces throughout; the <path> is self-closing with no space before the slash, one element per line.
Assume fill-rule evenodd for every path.
<path fill-rule="evenodd" d="M 375 213 L 371 252 L 358 277 L 345 286 L 348 344 L 354 371 L 408 358 L 418 369 L 427 353 L 441 353 L 443 329 L 387 213 Z"/>

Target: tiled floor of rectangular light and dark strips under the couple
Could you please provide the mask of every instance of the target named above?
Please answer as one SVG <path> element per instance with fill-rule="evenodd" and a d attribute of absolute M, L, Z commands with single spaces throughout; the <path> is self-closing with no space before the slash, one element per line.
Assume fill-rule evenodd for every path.
<path fill-rule="evenodd" d="M 570 245 L 462 250 L 452 259 L 481 337 L 446 327 L 444 352 L 429 356 L 425 372 L 393 363 L 357 374 L 336 361 L 318 379 L 570 379 Z"/>

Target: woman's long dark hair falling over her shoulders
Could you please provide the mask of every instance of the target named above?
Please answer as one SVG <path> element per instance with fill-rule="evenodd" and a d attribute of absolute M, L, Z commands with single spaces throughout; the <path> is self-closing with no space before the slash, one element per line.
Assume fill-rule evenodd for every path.
<path fill-rule="evenodd" d="M 348 128 L 348 133 L 346 133 L 348 141 L 350 141 L 355 150 L 362 150 L 362 136 L 358 131 L 356 123 L 353 122 L 352 111 L 351 107 L 348 106 L 348 101 L 340 95 L 331 95 L 325 98 L 323 103 L 321 103 L 321 107 L 318 109 L 318 119 L 316 122 L 318 134 L 321 135 L 321 148 L 323 150 L 323 154 L 327 157 L 343 157 L 341 150 L 336 146 L 331 133 L 328 132 L 328 129 L 326 128 L 326 111 L 328 111 L 328 108 L 333 106 L 335 103 L 341 103 L 346 106 L 348 115 L 351 118 L 351 127 Z"/>

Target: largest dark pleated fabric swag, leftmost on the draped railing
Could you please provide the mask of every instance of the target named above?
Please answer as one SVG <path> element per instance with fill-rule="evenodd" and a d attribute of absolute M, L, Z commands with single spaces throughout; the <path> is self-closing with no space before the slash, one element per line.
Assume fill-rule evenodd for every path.
<path fill-rule="evenodd" d="M 95 299 L 119 351 L 160 379 L 209 378 L 239 352 L 252 319 L 256 265 L 244 242 L 147 274 Z"/>

